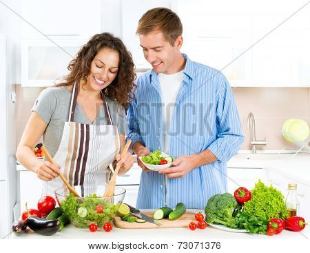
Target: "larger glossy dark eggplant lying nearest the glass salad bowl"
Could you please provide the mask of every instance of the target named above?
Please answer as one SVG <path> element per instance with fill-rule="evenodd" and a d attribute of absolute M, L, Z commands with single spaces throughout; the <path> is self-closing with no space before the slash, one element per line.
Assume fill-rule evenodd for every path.
<path fill-rule="evenodd" d="M 27 219 L 27 225 L 36 234 L 51 236 L 59 231 L 61 223 L 57 219 L 44 219 L 36 216 L 30 216 Z"/>

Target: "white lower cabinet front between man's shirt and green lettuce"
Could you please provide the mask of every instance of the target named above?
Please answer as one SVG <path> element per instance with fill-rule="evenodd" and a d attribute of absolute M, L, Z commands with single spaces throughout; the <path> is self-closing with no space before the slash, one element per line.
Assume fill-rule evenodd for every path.
<path fill-rule="evenodd" d="M 266 172 L 260 168 L 227 168 L 227 192 L 234 194 L 239 187 L 253 189 L 258 179 L 266 180 Z"/>

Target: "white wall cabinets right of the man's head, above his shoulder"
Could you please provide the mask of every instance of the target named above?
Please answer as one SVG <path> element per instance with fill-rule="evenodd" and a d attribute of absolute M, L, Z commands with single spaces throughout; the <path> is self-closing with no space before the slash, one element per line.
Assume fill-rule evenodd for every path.
<path fill-rule="evenodd" d="M 304 1 L 174 2 L 183 23 L 181 51 L 221 70 L 231 86 L 310 86 L 310 14 Z"/>

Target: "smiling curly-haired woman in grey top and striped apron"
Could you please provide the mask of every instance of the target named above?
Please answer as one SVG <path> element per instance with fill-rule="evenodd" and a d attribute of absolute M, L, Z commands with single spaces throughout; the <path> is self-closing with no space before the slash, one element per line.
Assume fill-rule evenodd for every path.
<path fill-rule="evenodd" d="M 43 195 L 63 187 L 62 172 L 71 185 L 104 185 L 107 167 L 121 163 L 129 170 L 125 145 L 125 110 L 136 88 L 132 55 L 112 34 L 96 34 L 70 62 L 65 83 L 41 92 L 17 148 L 17 159 L 43 180 Z M 32 152 L 43 135 L 43 145 L 59 167 L 39 161 Z"/>

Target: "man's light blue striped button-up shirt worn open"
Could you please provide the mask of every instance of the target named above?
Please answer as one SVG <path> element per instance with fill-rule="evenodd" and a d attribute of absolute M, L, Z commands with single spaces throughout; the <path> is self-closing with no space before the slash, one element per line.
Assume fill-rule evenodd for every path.
<path fill-rule="evenodd" d="M 238 110 L 225 76 L 187 59 L 170 125 L 169 154 L 178 157 L 209 149 L 217 161 L 194 168 L 183 178 L 168 179 L 158 172 L 141 174 L 137 208 L 204 209 L 214 194 L 227 191 L 227 161 L 238 154 L 244 136 Z M 163 108 L 158 74 L 145 72 L 127 113 L 127 139 L 141 141 L 150 151 L 163 150 Z"/>

